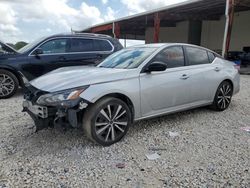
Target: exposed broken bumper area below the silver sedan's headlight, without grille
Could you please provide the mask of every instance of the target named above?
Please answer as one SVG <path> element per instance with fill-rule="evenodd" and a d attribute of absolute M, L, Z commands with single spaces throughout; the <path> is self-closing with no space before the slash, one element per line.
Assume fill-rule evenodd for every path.
<path fill-rule="evenodd" d="M 32 103 L 29 100 L 23 102 L 23 112 L 27 112 L 36 125 L 36 131 L 54 126 L 61 127 L 80 127 L 79 122 L 83 111 L 87 108 L 88 102 L 83 99 L 75 101 L 72 106 L 49 107 Z"/>

